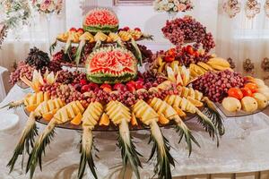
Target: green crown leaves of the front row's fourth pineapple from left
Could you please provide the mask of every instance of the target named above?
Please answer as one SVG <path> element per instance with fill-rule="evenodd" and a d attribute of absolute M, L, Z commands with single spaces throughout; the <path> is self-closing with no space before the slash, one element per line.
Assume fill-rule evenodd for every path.
<path fill-rule="evenodd" d="M 142 167 L 141 162 L 138 156 L 143 157 L 139 152 L 136 151 L 134 143 L 132 141 L 132 136 L 130 136 L 130 141 L 125 141 L 120 135 L 117 137 L 117 147 L 121 149 L 121 157 L 124 165 L 124 174 L 126 173 L 126 165 L 129 161 L 134 174 L 137 179 L 140 179 L 138 166 Z M 130 143 L 130 144 L 128 144 Z M 123 175 L 124 177 L 125 175 Z"/>

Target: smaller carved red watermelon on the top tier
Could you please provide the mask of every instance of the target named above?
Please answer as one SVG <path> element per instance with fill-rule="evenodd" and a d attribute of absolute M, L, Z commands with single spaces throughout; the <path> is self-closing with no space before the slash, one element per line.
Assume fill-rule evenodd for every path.
<path fill-rule="evenodd" d="M 90 32 L 116 32 L 118 30 L 117 15 L 105 8 L 93 9 L 86 14 L 83 29 Z"/>

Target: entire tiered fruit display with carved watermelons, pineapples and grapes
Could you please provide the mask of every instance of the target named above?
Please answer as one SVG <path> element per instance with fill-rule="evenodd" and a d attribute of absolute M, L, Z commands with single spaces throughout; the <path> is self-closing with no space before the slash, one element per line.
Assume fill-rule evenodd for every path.
<path fill-rule="evenodd" d="M 188 25 L 193 28 L 187 30 Z M 30 50 L 29 57 L 12 74 L 13 83 L 23 81 L 34 92 L 9 104 L 25 107 L 29 115 L 8 163 L 11 171 L 20 155 L 29 154 L 26 172 L 32 178 L 36 166 L 42 166 L 43 153 L 53 140 L 55 128 L 61 127 L 82 130 L 78 178 L 82 178 L 86 164 L 98 177 L 91 155 L 95 149 L 93 131 L 117 131 L 123 166 L 129 164 L 140 178 L 141 154 L 135 149 L 130 131 L 150 130 L 150 159 L 157 156 L 154 173 L 168 179 L 172 178 L 170 166 L 175 166 L 175 161 L 162 126 L 173 126 L 178 141 L 184 138 L 187 142 L 190 155 L 192 144 L 200 145 L 185 124 L 187 120 L 196 119 L 217 145 L 225 132 L 213 102 L 220 106 L 225 100 L 228 104 L 236 101 L 236 106 L 222 102 L 220 107 L 224 115 L 230 111 L 232 116 L 241 115 L 242 110 L 244 115 L 252 115 L 267 107 L 269 92 L 265 83 L 233 72 L 227 60 L 210 55 L 213 38 L 202 24 L 184 17 L 167 22 L 162 30 L 177 47 L 152 55 L 149 49 L 136 44 L 152 36 L 138 28 L 118 30 L 115 13 L 94 9 L 86 15 L 82 29 L 72 28 L 56 38 L 65 47 L 53 55 L 52 61 L 37 48 Z M 179 39 L 173 37 L 175 33 Z M 195 44 L 185 46 L 184 41 Z M 71 47 L 73 43 L 78 47 Z M 86 72 L 64 71 L 59 64 L 85 66 Z M 147 66 L 146 72 L 138 72 L 138 64 Z M 240 91 L 242 95 L 238 95 Z M 36 122 L 47 125 L 43 132 L 38 132 Z"/>

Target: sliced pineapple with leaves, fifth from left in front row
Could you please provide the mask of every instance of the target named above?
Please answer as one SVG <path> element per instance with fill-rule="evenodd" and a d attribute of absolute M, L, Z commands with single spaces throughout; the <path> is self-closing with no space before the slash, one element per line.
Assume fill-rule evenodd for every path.
<path fill-rule="evenodd" d="M 175 166 L 174 158 L 169 153 L 169 141 L 162 135 L 158 122 L 159 115 L 143 100 L 138 100 L 133 107 L 134 115 L 139 118 L 143 124 L 151 127 L 150 142 L 153 142 L 151 160 L 154 154 L 157 154 L 157 164 L 154 167 L 155 175 L 160 179 L 171 179 L 170 164 Z"/>

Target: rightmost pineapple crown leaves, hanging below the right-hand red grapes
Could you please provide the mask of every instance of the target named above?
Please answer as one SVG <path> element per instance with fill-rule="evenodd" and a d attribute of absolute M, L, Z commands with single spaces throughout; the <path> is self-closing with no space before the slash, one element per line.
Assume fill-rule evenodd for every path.
<path fill-rule="evenodd" d="M 213 104 L 212 104 L 213 105 Z M 222 136 L 225 133 L 225 127 L 223 125 L 223 118 L 217 109 L 210 103 L 204 104 L 204 114 L 207 115 L 218 129 L 219 134 Z"/>

